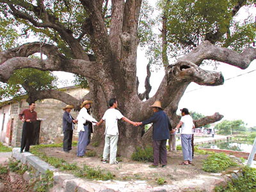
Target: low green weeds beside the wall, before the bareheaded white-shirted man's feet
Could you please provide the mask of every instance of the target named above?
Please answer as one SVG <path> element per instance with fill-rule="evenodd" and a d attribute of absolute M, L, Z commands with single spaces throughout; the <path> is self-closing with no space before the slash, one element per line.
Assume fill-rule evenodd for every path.
<path fill-rule="evenodd" d="M 87 179 L 96 179 L 96 180 L 110 180 L 114 178 L 114 175 L 110 172 L 104 173 L 100 168 L 91 168 L 87 165 L 84 165 L 83 170 L 77 170 L 75 172 L 77 177 L 85 177 Z"/>

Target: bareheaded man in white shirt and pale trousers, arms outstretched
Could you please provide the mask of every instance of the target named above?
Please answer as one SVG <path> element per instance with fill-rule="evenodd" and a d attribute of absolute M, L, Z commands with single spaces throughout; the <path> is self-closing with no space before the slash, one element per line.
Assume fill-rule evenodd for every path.
<path fill-rule="evenodd" d="M 116 151 L 117 151 L 117 141 L 118 141 L 118 126 L 117 122 L 119 119 L 128 122 L 136 126 L 135 122 L 132 122 L 128 118 L 126 118 L 120 111 L 116 108 L 118 106 L 117 100 L 115 98 L 109 100 L 110 108 L 104 113 L 102 119 L 100 120 L 97 125 L 99 126 L 102 124 L 103 121 L 106 122 L 106 129 L 105 129 L 105 145 L 103 151 L 103 159 L 102 163 L 107 163 L 109 159 L 109 164 L 118 164 L 116 161 Z M 109 158 L 108 158 L 109 156 Z"/>

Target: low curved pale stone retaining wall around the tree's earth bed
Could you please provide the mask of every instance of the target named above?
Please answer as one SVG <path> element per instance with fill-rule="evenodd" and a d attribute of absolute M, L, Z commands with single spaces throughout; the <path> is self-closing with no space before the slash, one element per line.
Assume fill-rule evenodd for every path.
<path fill-rule="evenodd" d="M 207 173 L 198 175 L 195 179 L 186 179 L 175 182 L 175 184 L 165 184 L 163 186 L 152 186 L 147 183 L 147 180 L 86 180 L 77 178 L 74 175 L 63 173 L 45 163 L 38 157 L 28 152 L 21 153 L 19 148 L 13 148 L 12 156 L 20 160 L 24 164 L 33 166 L 36 170 L 36 175 L 45 173 L 46 170 L 51 170 L 54 173 L 54 187 L 50 192 L 72 192 L 72 191 L 98 191 L 98 192 L 117 192 L 117 191 L 214 191 L 218 185 L 226 185 L 232 178 L 237 178 L 241 173 L 239 170 L 234 170 L 230 173 Z M 185 173 L 186 174 L 186 173 Z M 26 173 L 25 176 L 29 173 Z M 24 177 L 25 177 L 24 176 Z M 28 177 L 29 179 L 29 177 Z"/>

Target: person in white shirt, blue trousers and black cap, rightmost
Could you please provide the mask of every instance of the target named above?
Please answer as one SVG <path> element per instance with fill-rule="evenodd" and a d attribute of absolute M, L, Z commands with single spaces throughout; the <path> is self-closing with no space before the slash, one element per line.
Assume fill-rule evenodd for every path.
<path fill-rule="evenodd" d="M 187 108 L 180 109 L 182 117 L 180 118 L 179 124 L 173 129 L 172 132 L 179 129 L 181 126 L 180 138 L 181 138 L 181 147 L 184 161 L 182 165 L 192 163 L 192 129 L 195 128 L 192 117 L 189 115 Z"/>

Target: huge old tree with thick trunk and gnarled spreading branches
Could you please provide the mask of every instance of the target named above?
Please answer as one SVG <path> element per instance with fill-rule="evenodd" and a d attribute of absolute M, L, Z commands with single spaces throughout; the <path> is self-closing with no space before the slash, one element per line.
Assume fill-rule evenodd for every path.
<path fill-rule="evenodd" d="M 71 72 L 86 77 L 90 94 L 83 100 L 93 100 L 93 115 L 98 120 L 108 108 L 108 100 L 116 97 L 122 114 L 134 121 L 152 115 L 148 106 L 161 100 L 175 125 L 179 121 L 176 114 L 179 100 L 189 83 L 208 86 L 224 83 L 220 72 L 200 68 L 205 60 L 244 69 L 256 58 L 256 49 L 248 46 L 255 40 L 255 23 L 239 26 L 233 19 L 241 7 L 255 1 L 161 1 L 158 20 L 161 27 L 157 29 L 161 31 L 161 43 L 147 28 L 148 7 L 142 6 L 143 3 L 142 0 L 0 0 L 1 23 L 6 30 L 10 26 L 19 27 L 20 35 L 33 33 L 40 39 L 0 52 L 0 81 L 8 83 L 13 72 L 21 68 Z M 242 46 L 241 51 L 236 41 L 248 48 Z M 151 98 L 149 65 L 145 92 L 138 93 L 136 58 L 141 42 L 149 45 L 151 63 L 159 62 L 157 58 L 161 56 L 166 70 Z M 47 58 L 31 57 L 36 52 Z M 170 64 L 171 53 L 182 56 Z M 30 101 L 58 99 L 77 109 L 82 102 L 58 90 L 29 91 L 29 86 L 24 89 L 28 89 Z M 219 113 L 206 116 L 197 120 L 196 126 L 222 117 Z M 121 155 L 130 156 L 136 146 L 150 141 L 150 131 L 141 134 L 143 127 L 120 122 L 119 129 Z M 95 128 L 93 140 L 99 141 L 100 146 L 104 144 L 103 134 L 104 126 Z"/>

